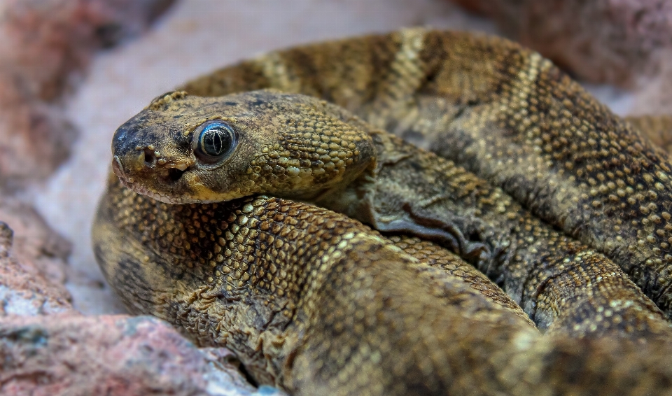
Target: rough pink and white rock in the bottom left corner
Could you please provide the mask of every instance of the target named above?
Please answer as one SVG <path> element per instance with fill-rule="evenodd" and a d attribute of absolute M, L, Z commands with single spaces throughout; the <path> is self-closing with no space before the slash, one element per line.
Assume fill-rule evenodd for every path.
<path fill-rule="evenodd" d="M 252 395 L 230 358 L 147 316 L 0 320 L 0 395 Z"/>

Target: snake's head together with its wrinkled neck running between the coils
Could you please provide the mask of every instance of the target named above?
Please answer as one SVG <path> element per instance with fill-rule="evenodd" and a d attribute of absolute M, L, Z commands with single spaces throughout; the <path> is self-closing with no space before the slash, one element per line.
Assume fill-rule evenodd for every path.
<path fill-rule="evenodd" d="M 219 155 L 204 151 L 210 140 Z M 672 336 L 661 311 L 601 253 L 468 171 L 314 97 L 162 95 L 117 129 L 112 165 L 128 188 L 167 203 L 269 194 L 442 241 L 501 278 L 546 332 Z"/>

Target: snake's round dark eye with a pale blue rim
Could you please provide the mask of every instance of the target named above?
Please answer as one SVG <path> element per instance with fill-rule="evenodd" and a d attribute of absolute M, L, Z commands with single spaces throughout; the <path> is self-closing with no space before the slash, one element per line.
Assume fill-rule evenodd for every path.
<path fill-rule="evenodd" d="M 221 120 L 205 122 L 198 129 L 194 134 L 196 139 L 194 153 L 207 164 L 228 157 L 238 143 L 236 130 Z"/>

